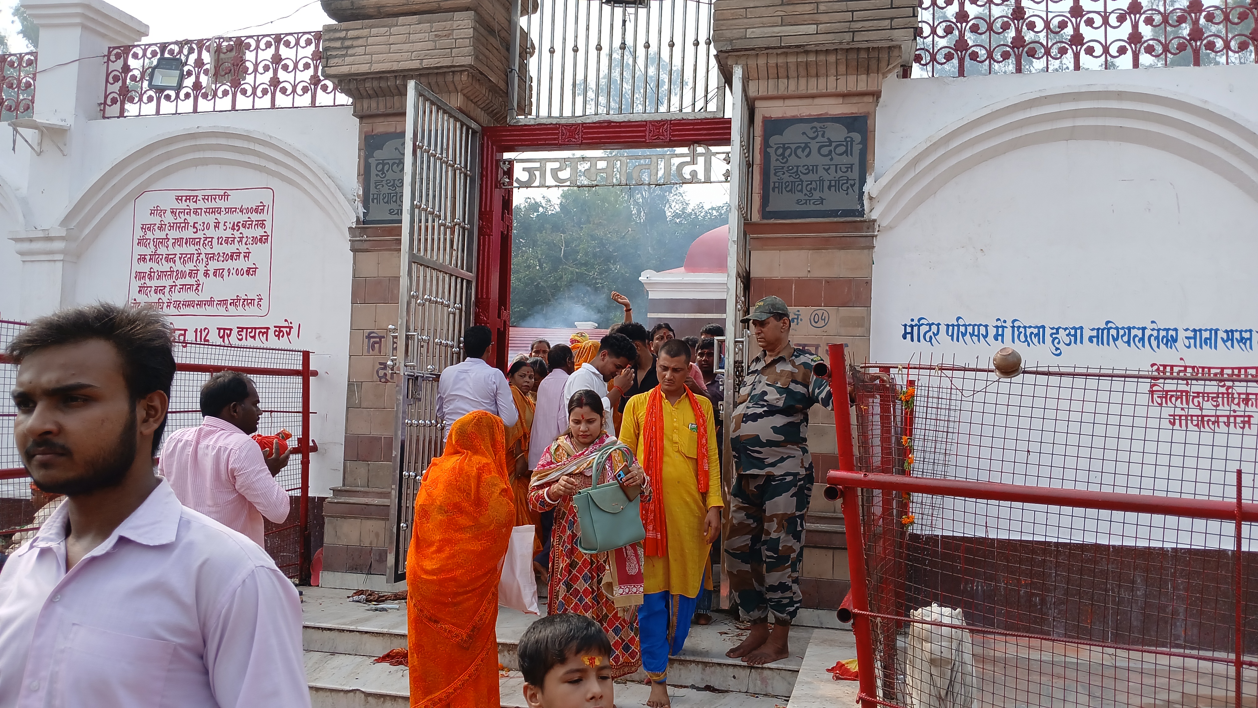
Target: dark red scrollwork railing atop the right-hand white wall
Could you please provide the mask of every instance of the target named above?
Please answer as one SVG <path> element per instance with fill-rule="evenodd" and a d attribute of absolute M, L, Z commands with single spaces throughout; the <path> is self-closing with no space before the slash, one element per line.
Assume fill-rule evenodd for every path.
<path fill-rule="evenodd" d="M 920 0 L 915 77 L 1252 64 L 1258 3 Z"/>

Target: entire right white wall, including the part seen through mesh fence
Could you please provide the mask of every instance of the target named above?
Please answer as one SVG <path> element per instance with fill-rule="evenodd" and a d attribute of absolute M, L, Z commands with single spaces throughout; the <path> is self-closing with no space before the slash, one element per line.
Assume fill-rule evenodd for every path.
<path fill-rule="evenodd" d="M 887 80 L 867 192 L 871 358 L 986 366 L 1013 346 L 1030 365 L 1258 366 L 1255 116 L 1252 65 Z M 1044 338 L 1015 341 L 1013 324 Z M 1111 324 L 1136 329 L 1110 329 L 1113 343 Z M 1150 345 L 1154 327 L 1174 343 Z M 1190 328 L 1210 331 L 1211 346 L 1191 346 Z M 1253 406 L 1152 405 L 1147 381 L 1110 395 L 1040 377 L 1030 400 L 1010 395 L 1025 381 L 918 379 L 933 380 L 920 404 L 936 420 L 915 433 L 915 474 L 1229 499 L 1243 468 L 1253 488 L 1255 426 L 1170 424 L 1176 412 L 1258 419 Z M 1232 543 L 1216 522 L 933 503 L 915 497 L 921 532 Z"/>

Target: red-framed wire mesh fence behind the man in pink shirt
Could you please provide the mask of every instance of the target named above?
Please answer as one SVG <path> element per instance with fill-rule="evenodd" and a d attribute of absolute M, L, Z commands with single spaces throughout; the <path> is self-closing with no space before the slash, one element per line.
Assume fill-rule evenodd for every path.
<path fill-rule="evenodd" d="M 20 322 L 0 321 L 0 351 L 24 327 Z M 179 329 L 176 338 L 179 338 Z M 267 552 L 276 565 L 294 580 L 303 580 L 309 571 L 307 546 L 309 463 L 302 454 L 308 439 L 309 424 L 309 352 L 267 347 L 238 347 L 225 345 L 176 341 L 176 373 L 171 386 L 170 411 L 166 433 L 169 436 L 181 428 L 201 424 L 200 391 L 210 373 L 224 370 L 249 375 L 262 400 L 262 418 L 258 433 L 273 435 L 288 430 L 293 449 L 288 465 L 276 477 L 288 492 L 291 503 L 288 518 L 282 523 L 265 522 Z M 23 468 L 14 441 L 16 410 L 8 391 L 13 389 L 18 370 L 0 363 L 0 552 L 21 541 L 24 532 L 33 531 L 38 506 L 47 503 L 44 495 L 30 485 L 30 477 Z M 157 455 L 161 455 L 159 448 Z M 47 514 L 44 514 L 47 516 Z"/>

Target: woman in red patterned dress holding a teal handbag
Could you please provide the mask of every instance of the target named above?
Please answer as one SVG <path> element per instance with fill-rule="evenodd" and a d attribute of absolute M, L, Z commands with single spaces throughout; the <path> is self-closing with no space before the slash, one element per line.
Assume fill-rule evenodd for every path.
<path fill-rule="evenodd" d="M 650 498 L 645 474 L 633 453 L 603 431 L 601 394 L 577 391 L 567 402 L 569 431 L 542 453 L 528 489 L 528 504 L 538 512 L 555 509 L 551 532 L 550 599 L 546 614 L 575 612 L 599 622 L 611 640 L 611 677 L 620 678 L 642 667 L 637 610 L 642 605 L 642 543 L 604 553 L 577 548 L 580 528 L 572 494 L 598 482 L 619 480 L 633 498 Z M 610 411 L 608 412 L 610 415 Z M 609 451 L 603 469 L 594 463 Z"/>

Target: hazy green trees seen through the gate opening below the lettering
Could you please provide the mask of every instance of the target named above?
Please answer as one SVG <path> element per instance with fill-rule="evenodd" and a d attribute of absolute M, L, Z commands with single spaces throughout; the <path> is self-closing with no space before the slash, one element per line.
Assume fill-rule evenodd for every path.
<path fill-rule="evenodd" d="M 728 220 L 728 209 L 691 204 L 681 187 L 566 189 L 559 202 L 523 197 L 512 234 L 511 321 L 571 327 L 621 319 L 619 290 L 645 319 L 643 270 L 678 268 L 699 234 Z"/>

